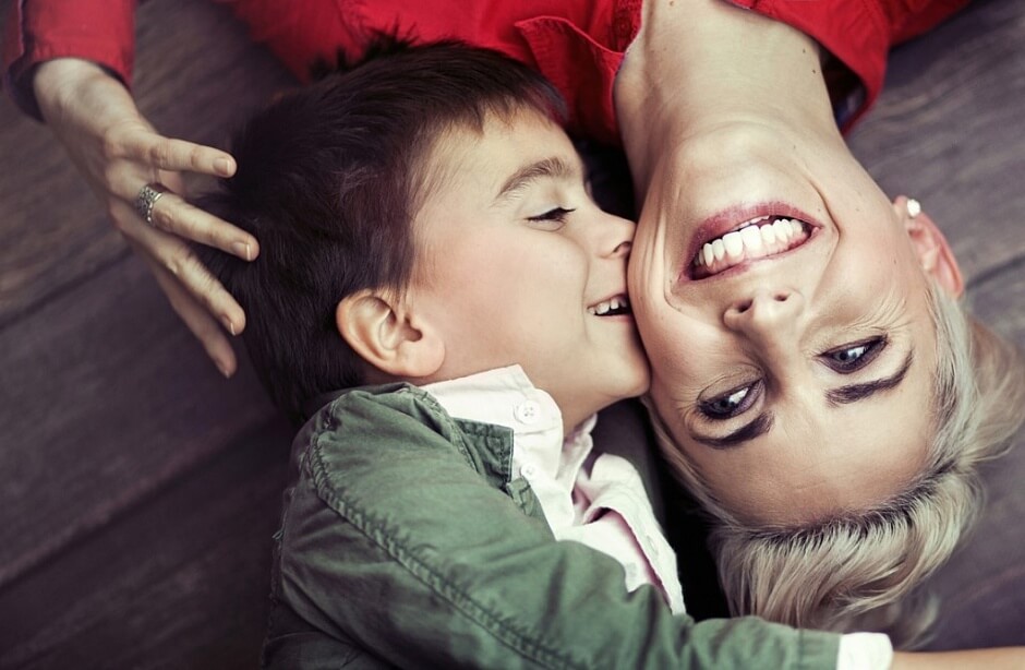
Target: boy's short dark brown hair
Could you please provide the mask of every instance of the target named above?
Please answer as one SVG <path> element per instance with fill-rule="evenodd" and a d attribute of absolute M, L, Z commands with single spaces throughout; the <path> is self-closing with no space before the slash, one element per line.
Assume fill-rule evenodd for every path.
<path fill-rule="evenodd" d="M 336 308 L 363 289 L 405 292 L 438 137 L 481 132 L 489 115 L 565 118 L 547 80 L 497 51 L 383 38 L 367 53 L 252 117 L 231 143 L 237 174 L 200 203 L 260 242 L 253 262 L 198 253 L 245 310 L 250 358 L 293 420 L 315 396 L 364 383 Z"/>

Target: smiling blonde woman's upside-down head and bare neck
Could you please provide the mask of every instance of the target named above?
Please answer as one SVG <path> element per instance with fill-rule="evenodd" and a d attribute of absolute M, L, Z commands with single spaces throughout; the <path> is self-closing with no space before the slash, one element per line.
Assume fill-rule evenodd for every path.
<path fill-rule="evenodd" d="M 616 82 L 663 452 L 716 519 L 734 611 L 911 642 L 928 613 L 885 608 L 972 521 L 976 466 L 1021 424 L 1025 376 L 955 306 L 936 225 L 851 155 L 818 45 L 721 2 L 689 9 L 651 4 Z"/>

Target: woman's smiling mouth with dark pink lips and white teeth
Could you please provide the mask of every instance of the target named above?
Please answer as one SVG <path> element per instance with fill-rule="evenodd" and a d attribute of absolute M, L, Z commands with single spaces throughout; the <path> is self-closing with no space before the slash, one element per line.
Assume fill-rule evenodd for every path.
<path fill-rule="evenodd" d="M 707 279 L 781 255 L 811 239 L 818 227 L 807 215 L 780 203 L 719 214 L 699 227 L 682 278 Z"/>

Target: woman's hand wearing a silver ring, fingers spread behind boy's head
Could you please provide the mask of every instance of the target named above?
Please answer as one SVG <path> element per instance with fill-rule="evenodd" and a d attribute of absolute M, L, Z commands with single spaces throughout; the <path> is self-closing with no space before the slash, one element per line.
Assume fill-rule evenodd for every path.
<path fill-rule="evenodd" d="M 232 335 L 245 313 L 200 263 L 188 241 L 253 260 L 256 239 L 189 204 L 180 172 L 217 177 L 234 174 L 227 153 L 158 134 L 119 81 L 95 63 L 61 58 L 43 63 L 33 82 L 43 117 L 105 204 L 114 227 L 138 252 L 171 307 L 225 376 L 234 373 Z M 135 211 L 140 189 L 159 182 L 170 189 L 153 206 L 153 224 Z"/>

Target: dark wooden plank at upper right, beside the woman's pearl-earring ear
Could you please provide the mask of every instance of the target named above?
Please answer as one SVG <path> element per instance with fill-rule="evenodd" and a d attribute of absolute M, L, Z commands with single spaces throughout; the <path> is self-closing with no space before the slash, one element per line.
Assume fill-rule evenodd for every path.
<path fill-rule="evenodd" d="M 894 51 L 851 136 L 887 193 L 922 202 L 969 280 L 1025 255 L 1023 35 L 1023 3 L 975 2 Z"/>

